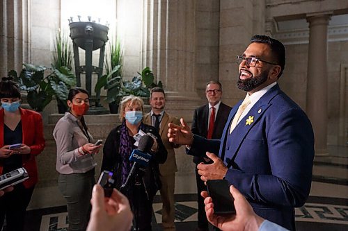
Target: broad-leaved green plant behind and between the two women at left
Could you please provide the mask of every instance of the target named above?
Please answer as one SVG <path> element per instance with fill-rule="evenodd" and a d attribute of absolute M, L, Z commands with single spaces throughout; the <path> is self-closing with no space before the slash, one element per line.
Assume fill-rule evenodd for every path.
<path fill-rule="evenodd" d="M 12 76 L 20 89 L 28 93 L 26 99 L 35 111 L 42 112 L 54 97 L 66 101 L 69 93 L 67 85 L 76 85 L 74 73 L 68 67 L 23 66 L 19 76 L 14 70 L 8 72 L 8 76 Z M 49 71 L 47 76 L 45 71 Z"/>

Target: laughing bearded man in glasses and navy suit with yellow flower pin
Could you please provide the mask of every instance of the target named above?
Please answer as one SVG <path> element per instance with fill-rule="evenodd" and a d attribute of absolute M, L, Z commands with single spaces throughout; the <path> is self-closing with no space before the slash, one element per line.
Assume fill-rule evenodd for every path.
<path fill-rule="evenodd" d="M 221 139 L 193 135 L 181 119 L 181 126 L 170 124 L 169 140 L 188 145 L 190 155 L 207 151 L 213 163 L 198 164 L 202 180 L 228 180 L 256 214 L 295 230 L 294 207 L 301 207 L 310 192 L 314 135 L 305 112 L 277 83 L 285 67 L 285 47 L 255 35 L 237 63 L 237 87 L 247 92 L 246 99 L 232 108 Z"/>

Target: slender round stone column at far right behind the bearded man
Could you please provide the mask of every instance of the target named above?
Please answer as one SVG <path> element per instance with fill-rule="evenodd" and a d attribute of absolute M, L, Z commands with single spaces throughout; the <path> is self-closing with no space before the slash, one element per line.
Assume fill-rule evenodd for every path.
<path fill-rule="evenodd" d="M 330 12 L 307 15 L 310 36 L 308 47 L 308 76 L 306 112 L 315 133 L 315 155 L 328 156 L 327 151 L 327 49 Z"/>

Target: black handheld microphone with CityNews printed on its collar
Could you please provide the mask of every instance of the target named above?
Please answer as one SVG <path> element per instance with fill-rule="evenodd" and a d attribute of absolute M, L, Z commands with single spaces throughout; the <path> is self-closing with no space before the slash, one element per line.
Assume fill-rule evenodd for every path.
<path fill-rule="evenodd" d="M 148 154 L 148 152 L 152 145 L 153 139 L 149 135 L 143 135 L 140 138 L 138 148 L 134 149 L 129 157 L 129 160 L 133 161 L 134 164 L 131 171 L 129 171 L 125 183 L 120 187 L 121 192 L 129 187 L 130 182 L 134 180 L 139 171 L 145 172 L 145 169 L 142 169 L 141 167 L 147 167 L 149 165 L 152 156 Z"/>

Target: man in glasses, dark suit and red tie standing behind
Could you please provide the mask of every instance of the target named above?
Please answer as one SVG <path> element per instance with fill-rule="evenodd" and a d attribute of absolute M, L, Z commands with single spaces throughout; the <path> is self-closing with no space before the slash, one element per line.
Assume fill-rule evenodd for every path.
<path fill-rule="evenodd" d="M 208 103 L 197 108 L 193 114 L 192 128 L 193 134 L 206 137 L 207 139 L 220 139 L 225 123 L 230 114 L 230 106 L 221 102 L 222 86 L 216 81 L 209 81 L 205 88 L 205 96 Z M 206 160 L 205 160 L 206 159 Z M 209 163 L 209 159 L 204 157 L 193 157 L 196 164 L 196 183 L 197 183 L 197 201 L 198 201 L 198 228 L 196 231 L 208 230 L 207 216 L 205 216 L 204 198 L 200 196 L 201 191 L 206 191 L 207 187 L 203 180 L 200 180 L 197 165 L 200 163 Z"/>

